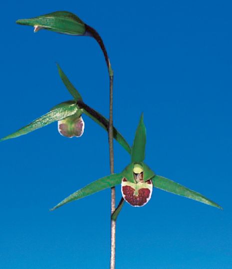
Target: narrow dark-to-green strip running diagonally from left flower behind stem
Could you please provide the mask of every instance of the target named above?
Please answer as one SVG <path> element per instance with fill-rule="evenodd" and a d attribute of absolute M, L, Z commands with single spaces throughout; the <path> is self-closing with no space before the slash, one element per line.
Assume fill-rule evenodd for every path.
<path fill-rule="evenodd" d="M 97 124 L 99 124 L 101 127 L 103 127 L 105 130 L 108 131 L 108 125 L 109 121 L 107 118 L 105 118 L 103 115 L 101 115 L 99 112 L 94 110 L 93 108 L 89 107 L 87 104 L 83 102 L 77 102 L 78 106 L 83 109 L 83 113 L 89 116 L 92 120 L 94 120 Z M 123 147 L 126 149 L 126 151 L 131 154 L 131 147 L 127 143 L 126 139 L 122 136 L 122 134 L 114 127 L 113 128 L 113 135 L 114 139 L 117 140 Z"/>

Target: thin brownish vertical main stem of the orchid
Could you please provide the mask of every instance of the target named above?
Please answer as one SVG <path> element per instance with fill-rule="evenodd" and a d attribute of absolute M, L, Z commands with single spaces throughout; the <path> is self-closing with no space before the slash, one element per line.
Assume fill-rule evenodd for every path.
<path fill-rule="evenodd" d="M 109 63 L 110 66 L 110 63 Z M 111 66 L 110 66 L 111 69 Z M 110 116 L 109 116 L 109 149 L 110 149 L 110 172 L 114 173 L 114 151 L 113 151 L 113 73 L 110 75 Z M 111 188 L 111 215 L 115 210 L 115 187 Z M 111 252 L 110 269 L 115 269 L 115 239 L 116 220 L 111 219 Z"/>

